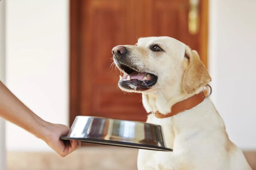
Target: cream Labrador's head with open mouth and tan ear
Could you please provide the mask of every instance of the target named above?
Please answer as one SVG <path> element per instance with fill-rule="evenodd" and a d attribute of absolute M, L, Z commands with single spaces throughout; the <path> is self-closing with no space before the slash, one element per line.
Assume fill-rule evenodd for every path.
<path fill-rule="evenodd" d="M 171 37 L 146 37 L 136 45 L 112 49 L 114 63 L 124 75 L 119 87 L 127 92 L 150 92 L 163 87 L 192 94 L 210 82 L 196 51 Z"/>

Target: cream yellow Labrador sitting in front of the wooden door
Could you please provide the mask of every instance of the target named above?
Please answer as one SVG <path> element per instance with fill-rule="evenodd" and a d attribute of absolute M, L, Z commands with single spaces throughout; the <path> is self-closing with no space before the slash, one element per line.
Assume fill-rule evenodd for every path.
<path fill-rule="evenodd" d="M 119 88 L 142 94 L 151 113 L 146 122 L 162 125 L 166 146 L 173 149 L 140 149 L 138 170 L 251 170 L 214 104 L 202 94 L 211 77 L 196 51 L 171 37 L 146 37 L 135 45 L 118 45 L 112 54 L 124 73 Z M 196 106 L 183 106 L 200 95 Z M 168 116 L 177 104 L 184 110 Z"/>

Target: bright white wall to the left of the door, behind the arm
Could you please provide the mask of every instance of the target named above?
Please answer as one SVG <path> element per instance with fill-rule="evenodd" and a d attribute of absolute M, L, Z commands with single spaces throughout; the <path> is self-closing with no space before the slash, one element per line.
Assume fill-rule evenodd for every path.
<path fill-rule="evenodd" d="M 6 85 L 37 115 L 68 123 L 68 0 L 6 2 Z M 7 123 L 8 150 L 50 150 Z"/>

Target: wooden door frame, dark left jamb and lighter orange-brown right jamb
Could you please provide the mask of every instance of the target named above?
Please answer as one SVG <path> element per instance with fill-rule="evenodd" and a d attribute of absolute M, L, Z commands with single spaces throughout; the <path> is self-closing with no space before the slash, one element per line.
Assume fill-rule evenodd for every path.
<path fill-rule="evenodd" d="M 80 115 L 80 4 L 82 0 L 69 0 L 69 34 L 70 34 L 70 64 L 69 64 L 69 125 Z M 200 0 L 200 59 L 208 67 L 208 0 Z"/>

